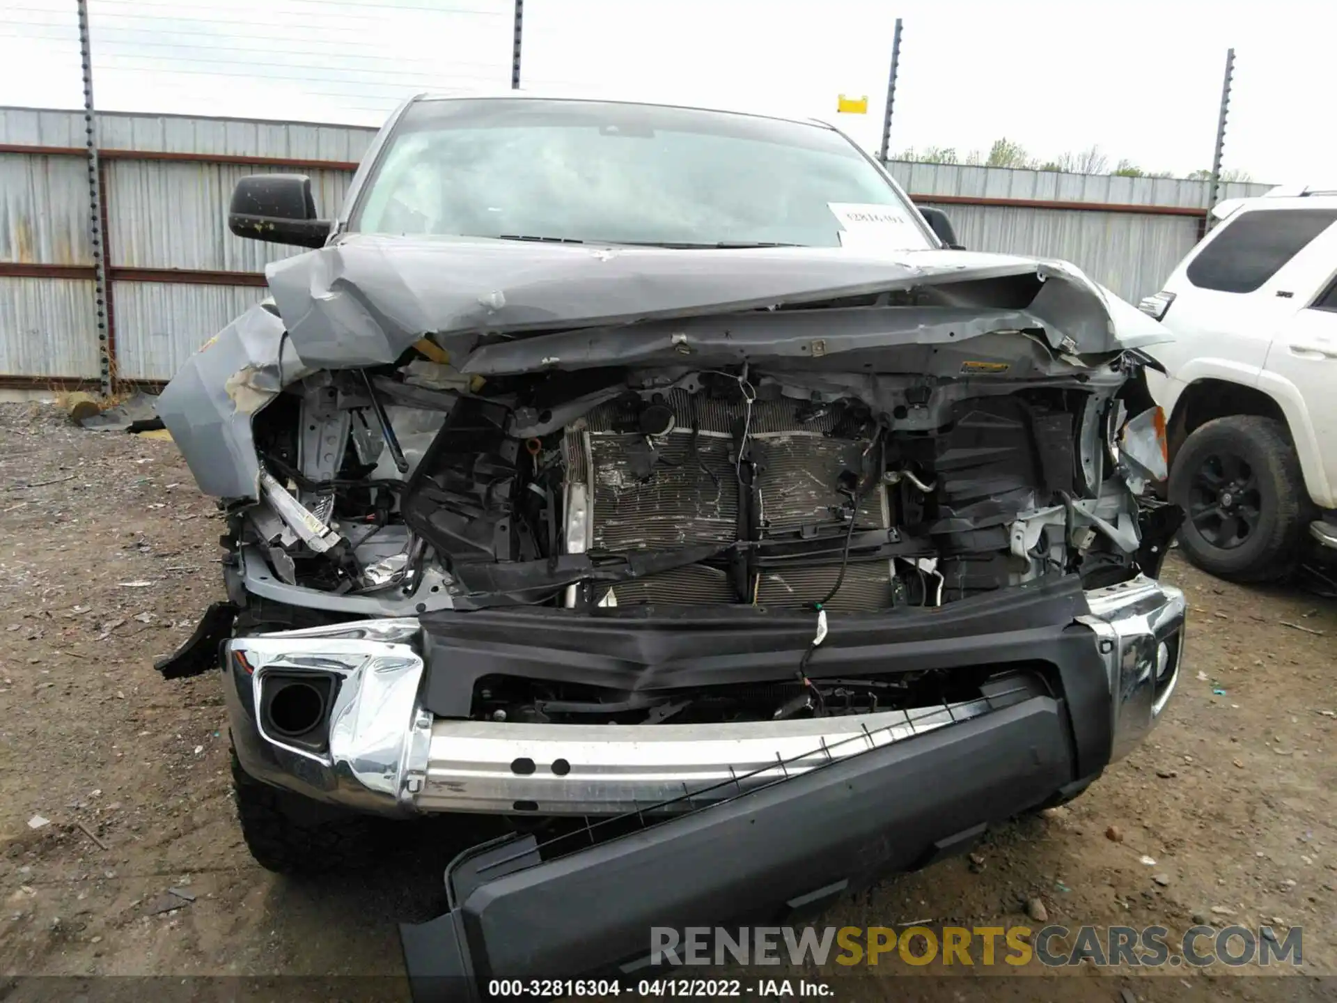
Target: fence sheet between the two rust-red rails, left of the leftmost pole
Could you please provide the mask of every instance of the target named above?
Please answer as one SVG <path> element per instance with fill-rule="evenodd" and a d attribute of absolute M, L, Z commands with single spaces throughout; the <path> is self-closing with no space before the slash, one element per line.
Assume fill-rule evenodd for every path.
<path fill-rule="evenodd" d="M 0 154 L 0 261 L 92 265 L 84 160 Z"/>

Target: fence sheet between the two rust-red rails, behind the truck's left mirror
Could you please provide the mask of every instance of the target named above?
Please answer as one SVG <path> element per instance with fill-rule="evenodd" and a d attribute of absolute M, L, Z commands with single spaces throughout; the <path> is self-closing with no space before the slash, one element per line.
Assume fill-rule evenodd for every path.
<path fill-rule="evenodd" d="M 227 229 L 237 182 L 273 167 L 170 160 L 107 162 L 111 263 L 124 267 L 261 271 L 301 247 L 243 239 Z M 305 171 L 316 211 L 333 217 L 352 174 Z M 83 199 L 87 203 L 87 198 Z"/>

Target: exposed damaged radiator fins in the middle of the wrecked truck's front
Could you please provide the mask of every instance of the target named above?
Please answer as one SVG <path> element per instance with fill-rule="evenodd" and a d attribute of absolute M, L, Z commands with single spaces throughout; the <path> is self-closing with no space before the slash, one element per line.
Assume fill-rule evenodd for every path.
<path fill-rule="evenodd" d="M 857 471 L 865 441 L 836 437 L 838 416 L 806 419 L 812 411 L 787 399 L 757 400 L 747 415 L 737 400 L 671 391 L 662 400 L 674 413 L 667 435 L 646 439 L 636 428 L 636 404 L 616 401 L 594 409 L 580 433 L 567 435 L 567 476 L 592 485 L 590 546 L 632 551 L 727 543 L 738 539 L 739 484 L 734 443 L 747 423 L 761 495 L 761 536 L 846 526 L 842 471 Z M 694 431 L 695 428 L 695 431 Z M 889 527 L 881 485 L 860 502 L 858 528 Z M 797 608 L 826 595 L 840 562 L 769 568 L 754 583 L 759 606 Z M 890 606 L 889 562 L 852 563 L 833 611 Z M 705 566 L 677 568 L 612 590 L 606 602 L 715 604 L 737 602 L 727 575 Z"/>

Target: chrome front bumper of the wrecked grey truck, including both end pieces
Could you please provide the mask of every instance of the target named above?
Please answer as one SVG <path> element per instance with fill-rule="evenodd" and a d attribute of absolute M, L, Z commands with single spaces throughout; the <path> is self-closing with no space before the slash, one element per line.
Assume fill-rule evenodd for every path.
<path fill-rule="evenodd" d="M 1151 729 L 1174 690 L 1185 600 L 1171 586 L 1138 578 L 1087 592 L 1087 604 L 1078 623 L 1090 630 L 1108 677 L 1116 760 Z M 433 719 L 420 703 L 417 630 L 414 619 L 362 621 L 227 642 L 223 675 L 243 769 L 386 814 L 616 814 L 674 800 L 697 808 L 991 711 L 989 701 L 977 699 L 727 725 Z M 271 673 L 336 678 L 325 748 L 301 748 L 259 723 Z"/>

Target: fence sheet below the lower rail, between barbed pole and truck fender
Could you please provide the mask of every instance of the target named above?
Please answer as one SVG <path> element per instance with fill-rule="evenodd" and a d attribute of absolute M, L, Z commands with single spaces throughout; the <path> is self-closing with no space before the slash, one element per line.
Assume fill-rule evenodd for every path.
<path fill-rule="evenodd" d="M 127 380 L 170 380 L 231 320 L 265 298 L 254 286 L 114 282 L 116 372 Z"/>

